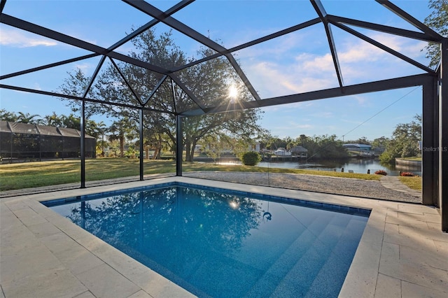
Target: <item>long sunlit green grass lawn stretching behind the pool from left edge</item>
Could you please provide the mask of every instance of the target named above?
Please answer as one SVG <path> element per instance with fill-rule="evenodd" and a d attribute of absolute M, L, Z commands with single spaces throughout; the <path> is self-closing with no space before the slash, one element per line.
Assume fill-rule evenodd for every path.
<path fill-rule="evenodd" d="M 364 173 L 341 173 L 302 169 L 279 169 L 258 166 L 218 165 L 212 163 L 184 162 L 184 172 L 188 171 L 251 171 L 270 173 L 298 173 L 341 178 L 379 180 L 379 175 Z M 176 173 L 176 163 L 169 160 L 144 160 L 144 174 Z M 85 161 L 85 180 L 104 180 L 139 176 L 139 159 L 96 158 Z M 65 183 L 80 183 L 80 160 L 57 160 L 50 162 L 24 162 L 20 164 L 0 164 L 0 191 L 18 190 Z"/>

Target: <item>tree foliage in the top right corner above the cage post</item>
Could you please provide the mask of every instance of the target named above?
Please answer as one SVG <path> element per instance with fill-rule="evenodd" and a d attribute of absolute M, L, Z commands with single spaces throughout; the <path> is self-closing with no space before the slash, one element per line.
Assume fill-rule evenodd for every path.
<path fill-rule="evenodd" d="M 440 35 L 448 37 L 448 0 L 429 0 L 428 8 L 432 12 L 425 18 L 425 24 Z M 440 44 L 428 43 L 426 57 L 430 58 L 429 66 L 437 66 L 440 62 Z"/>

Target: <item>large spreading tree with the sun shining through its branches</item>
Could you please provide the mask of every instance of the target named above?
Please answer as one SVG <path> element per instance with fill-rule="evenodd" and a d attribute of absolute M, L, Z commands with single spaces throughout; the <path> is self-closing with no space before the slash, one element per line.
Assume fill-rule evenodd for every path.
<path fill-rule="evenodd" d="M 171 32 L 155 36 L 154 31 L 150 29 L 134 38 L 132 42 L 137 50 L 130 52 L 131 57 L 163 66 L 165 69 L 174 69 L 195 60 L 193 57 L 186 58 L 174 43 Z M 207 48 L 201 48 L 197 52 L 199 58 L 213 54 L 214 51 Z M 140 101 L 148 100 L 146 107 L 153 111 L 144 111 L 144 143 L 152 144 L 159 151 L 160 146 L 165 143 L 168 143 L 168 147 L 172 150 L 176 148 L 175 115 L 199 108 L 197 101 L 202 102 L 203 106 L 227 103 L 232 108 L 232 105 L 237 105 L 239 101 L 251 100 L 251 94 L 243 88 L 242 83 L 237 84 L 237 74 L 225 57 L 176 71 L 175 75 L 183 83 L 182 87 L 172 83 L 169 78 L 160 84 L 162 76 L 148 69 L 124 62 L 116 65 L 120 71 L 115 65 L 109 64 L 95 80 L 89 92 L 91 96 L 111 103 L 141 106 Z M 80 94 L 85 92 L 84 88 L 89 80 L 90 78 L 78 70 L 65 81 L 61 90 L 67 94 Z M 134 92 L 130 90 L 129 85 Z M 160 86 L 157 92 L 153 92 L 158 85 Z M 230 85 L 237 85 L 239 88 L 238 98 L 228 96 Z M 197 97 L 195 101 L 188 97 L 185 88 L 195 94 Z M 73 111 L 78 111 L 80 108 L 78 101 L 69 101 L 69 105 Z M 137 109 L 102 104 L 89 105 L 89 115 L 102 114 L 112 118 L 127 118 L 132 127 L 137 127 L 139 120 Z M 238 139 L 250 139 L 256 136 L 260 131 L 257 125 L 259 117 L 258 109 L 250 109 L 183 118 L 183 146 L 186 148 L 186 160 L 193 161 L 195 146 L 207 136 L 229 135 Z"/>

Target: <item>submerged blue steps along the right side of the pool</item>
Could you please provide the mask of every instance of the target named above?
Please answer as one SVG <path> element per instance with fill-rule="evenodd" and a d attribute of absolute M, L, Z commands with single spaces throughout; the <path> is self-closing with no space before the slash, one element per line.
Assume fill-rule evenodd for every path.
<path fill-rule="evenodd" d="M 273 297 L 328 296 L 327 289 L 334 287 L 335 283 L 336 288 L 338 285 L 342 286 L 349 267 L 349 264 L 346 264 L 347 257 L 351 262 L 351 256 L 344 252 L 344 246 L 350 239 L 356 239 L 352 236 L 352 232 L 358 229 L 358 226 L 356 220 L 346 220 L 337 214 L 316 218 L 272 265 L 269 273 L 259 278 L 248 296 L 262 294 Z M 304 247 L 303 243 L 307 241 L 311 243 Z M 330 244 L 331 241 L 333 243 L 337 241 L 336 245 Z M 345 257 L 341 258 L 338 254 Z M 333 257 L 328 260 L 326 257 L 323 258 L 325 255 Z M 339 276 L 335 281 L 329 274 L 343 276 Z M 257 292 L 261 288 L 264 289 L 264 293 Z M 337 296 L 337 293 L 332 296 Z"/>

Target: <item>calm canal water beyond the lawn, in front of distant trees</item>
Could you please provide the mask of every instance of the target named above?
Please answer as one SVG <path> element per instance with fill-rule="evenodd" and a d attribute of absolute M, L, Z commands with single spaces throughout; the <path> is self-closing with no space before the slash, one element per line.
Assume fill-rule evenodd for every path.
<path fill-rule="evenodd" d="M 218 162 L 218 164 L 241 164 L 241 162 Z M 270 168 L 282 168 L 282 169 L 312 169 L 320 171 L 353 171 L 353 173 L 374 173 L 378 170 L 386 171 L 390 176 L 398 176 L 399 171 L 406 171 L 414 173 L 414 175 L 421 176 L 420 167 L 409 166 L 393 166 L 380 164 L 378 159 L 347 159 L 346 161 L 319 161 L 319 162 L 259 162 L 257 166 L 270 167 Z"/>

